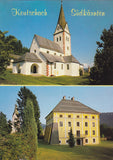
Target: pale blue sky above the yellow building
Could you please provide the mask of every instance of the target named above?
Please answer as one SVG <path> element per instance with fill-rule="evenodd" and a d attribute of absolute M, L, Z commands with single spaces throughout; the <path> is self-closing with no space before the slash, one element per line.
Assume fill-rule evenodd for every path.
<path fill-rule="evenodd" d="M 74 96 L 75 100 L 99 112 L 113 112 L 113 87 L 27 86 L 27 88 L 37 97 L 42 123 L 45 123 L 45 117 L 59 103 L 63 96 L 66 96 L 66 99 Z M 19 90 L 20 86 L 0 87 L 0 111 L 6 114 L 7 119 L 12 118 Z"/>

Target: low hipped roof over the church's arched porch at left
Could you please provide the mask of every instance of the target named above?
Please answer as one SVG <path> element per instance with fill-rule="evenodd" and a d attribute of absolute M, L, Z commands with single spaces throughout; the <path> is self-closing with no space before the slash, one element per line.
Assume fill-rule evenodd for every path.
<path fill-rule="evenodd" d="M 40 60 L 40 58 L 37 57 L 37 55 L 35 53 L 25 53 L 24 55 L 22 55 L 20 58 L 14 60 L 14 63 L 16 62 L 23 62 L 23 61 L 27 61 L 27 62 L 42 62 Z"/>

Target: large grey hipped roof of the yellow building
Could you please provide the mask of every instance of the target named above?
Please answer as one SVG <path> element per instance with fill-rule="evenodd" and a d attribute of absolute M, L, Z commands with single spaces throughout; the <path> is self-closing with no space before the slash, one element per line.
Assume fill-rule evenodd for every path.
<path fill-rule="evenodd" d="M 62 99 L 51 112 L 100 114 L 96 110 L 73 99 L 72 100 Z"/>

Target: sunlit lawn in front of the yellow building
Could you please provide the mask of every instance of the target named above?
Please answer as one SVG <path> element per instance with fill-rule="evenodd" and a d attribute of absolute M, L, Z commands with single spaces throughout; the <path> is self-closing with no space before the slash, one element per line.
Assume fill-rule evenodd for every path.
<path fill-rule="evenodd" d="M 38 160 L 113 160 L 113 141 L 99 145 L 75 146 L 48 145 L 39 142 Z"/>

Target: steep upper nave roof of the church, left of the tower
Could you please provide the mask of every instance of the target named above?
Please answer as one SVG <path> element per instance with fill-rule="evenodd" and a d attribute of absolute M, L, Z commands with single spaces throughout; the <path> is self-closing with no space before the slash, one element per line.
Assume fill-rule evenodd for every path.
<path fill-rule="evenodd" d="M 63 53 L 63 50 L 57 43 L 38 35 L 35 35 L 35 37 L 40 47 Z"/>

